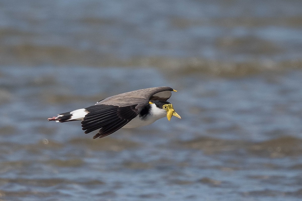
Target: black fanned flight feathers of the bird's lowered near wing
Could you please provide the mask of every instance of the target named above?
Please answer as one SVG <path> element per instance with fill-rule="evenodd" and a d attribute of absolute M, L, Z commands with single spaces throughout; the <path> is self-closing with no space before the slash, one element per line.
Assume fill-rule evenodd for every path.
<path fill-rule="evenodd" d="M 85 108 L 89 113 L 85 115 L 84 120 L 81 122 L 82 130 L 85 130 L 85 133 L 90 133 L 100 129 L 93 139 L 110 135 L 138 115 L 136 106 L 119 107 L 116 105 L 98 104 Z"/>

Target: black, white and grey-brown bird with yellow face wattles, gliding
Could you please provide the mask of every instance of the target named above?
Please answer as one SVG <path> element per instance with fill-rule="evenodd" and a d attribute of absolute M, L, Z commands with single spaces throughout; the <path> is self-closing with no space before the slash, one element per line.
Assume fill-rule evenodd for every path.
<path fill-rule="evenodd" d="M 120 128 L 136 128 L 172 116 L 181 117 L 167 102 L 173 90 L 168 86 L 130 91 L 108 97 L 87 108 L 59 114 L 48 121 L 67 122 L 82 120 L 82 130 L 90 133 L 98 130 L 93 139 L 105 137 Z"/>

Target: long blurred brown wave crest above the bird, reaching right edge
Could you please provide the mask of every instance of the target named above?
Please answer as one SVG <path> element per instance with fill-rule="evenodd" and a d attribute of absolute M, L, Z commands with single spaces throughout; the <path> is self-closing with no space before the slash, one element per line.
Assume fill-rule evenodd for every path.
<path fill-rule="evenodd" d="M 170 77 L 171 73 L 175 76 L 179 74 L 207 73 L 221 77 L 241 77 L 266 71 L 284 71 L 288 68 L 301 69 L 302 61 L 299 59 L 286 61 L 261 60 L 255 57 L 245 61 L 232 61 L 210 60 L 200 57 L 175 58 L 154 56 L 130 58 L 129 62 L 125 63 L 125 66 L 153 66 L 165 69 L 163 73 L 167 73 L 167 77 Z"/>

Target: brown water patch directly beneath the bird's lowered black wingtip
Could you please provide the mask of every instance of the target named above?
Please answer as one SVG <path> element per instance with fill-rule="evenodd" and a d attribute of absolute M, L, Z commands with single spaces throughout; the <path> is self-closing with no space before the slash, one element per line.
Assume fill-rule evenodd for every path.
<path fill-rule="evenodd" d="M 140 146 L 139 143 L 130 140 L 120 140 L 111 137 L 104 137 L 102 139 L 73 138 L 69 143 L 77 147 L 82 147 L 82 149 L 115 152 L 124 149 L 134 149 Z"/>

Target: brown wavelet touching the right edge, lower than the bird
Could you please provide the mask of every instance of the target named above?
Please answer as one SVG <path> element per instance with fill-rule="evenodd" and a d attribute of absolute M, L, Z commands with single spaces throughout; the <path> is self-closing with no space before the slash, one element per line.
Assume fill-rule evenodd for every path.
<path fill-rule="evenodd" d="M 301 155 L 302 140 L 291 136 L 280 137 L 255 143 L 248 147 L 248 151 L 258 156 L 270 158 Z"/>

